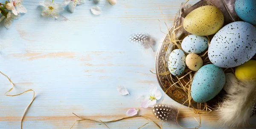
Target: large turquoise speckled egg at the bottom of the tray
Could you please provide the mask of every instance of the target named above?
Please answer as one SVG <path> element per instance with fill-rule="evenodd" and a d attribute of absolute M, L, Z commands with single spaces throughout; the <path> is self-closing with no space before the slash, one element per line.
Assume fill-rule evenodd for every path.
<path fill-rule="evenodd" d="M 224 85 L 224 71 L 214 64 L 207 64 L 198 70 L 192 80 L 192 99 L 198 103 L 207 102 L 218 95 Z"/>

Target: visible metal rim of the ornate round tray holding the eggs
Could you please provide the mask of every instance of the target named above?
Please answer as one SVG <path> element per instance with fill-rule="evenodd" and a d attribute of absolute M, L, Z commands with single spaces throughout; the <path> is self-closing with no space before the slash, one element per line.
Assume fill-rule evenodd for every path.
<path fill-rule="evenodd" d="M 205 4 L 205 1 L 201 0 L 198 3 L 196 3 L 195 5 L 193 5 L 192 7 L 201 6 L 203 4 Z M 170 29 L 168 29 L 168 31 L 169 30 Z M 166 34 L 168 33 L 168 31 L 166 32 Z M 168 62 L 169 54 L 174 49 L 174 46 L 171 43 L 166 43 L 167 41 L 169 41 L 169 37 L 166 34 L 163 36 L 163 38 L 160 41 L 160 44 L 157 49 L 156 59 L 155 59 L 155 70 L 157 73 L 157 81 L 164 92 L 166 92 L 166 90 L 170 86 L 172 86 L 172 84 L 170 83 L 171 77 L 170 77 L 170 75 L 159 75 L 159 74 L 168 71 L 168 66 L 165 66 L 165 64 L 168 65 L 167 62 Z M 176 35 L 177 39 L 179 39 L 179 40 L 182 40 L 185 36 L 186 35 L 182 34 L 182 33 L 178 33 Z M 166 62 L 166 63 L 164 63 L 164 62 Z M 178 88 L 177 85 L 174 85 L 171 88 L 169 88 L 168 91 L 166 92 L 166 95 L 168 95 L 169 97 L 171 97 L 173 100 L 175 100 L 176 102 L 178 102 L 180 104 L 189 106 L 189 102 L 186 102 L 186 100 L 188 100 L 187 93 L 184 92 L 182 89 Z M 218 101 L 220 100 L 220 99 L 218 99 L 218 97 L 221 97 L 222 95 L 223 94 L 219 94 L 212 100 L 209 100 L 207 102 L 207 105 L 214 107 L 214 105 L 217 104 Z M 194 102 L 193 100 L 191 101 L 191 104 L 195 108 L 199 108 L 198 103 Z M 204 108 L 203 104 L 201 104 L 201 109 L 202 108 Z"/>

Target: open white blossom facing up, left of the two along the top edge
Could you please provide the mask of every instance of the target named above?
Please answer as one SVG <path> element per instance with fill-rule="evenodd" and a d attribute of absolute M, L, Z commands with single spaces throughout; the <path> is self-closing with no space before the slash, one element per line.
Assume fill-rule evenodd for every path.
<path fill-rule="evenodd" d="M 51 0 L 45 0 L 44 3 L 40 4 L 44 6 L 44 10 L 42 11 L 42 16 L 44 17 L 54 17 L 58 19 L 60 17 L 59 11 L 63 11 L 64 9 L 61 7 L 61 4 L 52 3 Z"/>

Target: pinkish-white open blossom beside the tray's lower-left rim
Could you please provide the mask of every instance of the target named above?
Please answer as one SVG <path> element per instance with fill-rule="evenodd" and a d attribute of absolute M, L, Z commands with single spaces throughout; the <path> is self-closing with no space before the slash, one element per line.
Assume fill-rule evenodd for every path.
<path fill-rule="evenodd" d="M 162 97 L 162 93 L 159 90 L 157 90 L 157 86 L 153 86 L 150 89 L 150 95 L 148 97 L 142 96 L 140 98 L 140 100 L 142 100 L 141 107 L 143 108 L 152 107 L 154 106 L 154 104 L 157 103 L 157 100 L 160 100 L 161 97 Z"/>

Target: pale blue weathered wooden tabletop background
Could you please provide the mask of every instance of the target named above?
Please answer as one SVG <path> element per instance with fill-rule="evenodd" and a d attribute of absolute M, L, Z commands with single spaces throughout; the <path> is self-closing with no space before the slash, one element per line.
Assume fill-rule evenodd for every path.
<path fill-rule="evenodd" d="M 140 108 L 137 98 L 149 93 L 149 85 L 158 86 L 155 75 L 149 72 L 154 71 L 156 53 L 129 43 L 127 38 L 136 32 L 151 34 L 157 40 L 156 50 L 163 37 L 157 19 L 166 32 L 164 21 L 171 26 L 181 0 L 118 0 L 115 6 L 102 1 L 100 16 L 90 13 L 94 4 L 86 0 L 73 14 L 67 9 L 62 11 L 58 20 L 41 17 L 40 1 L 43 2 L 24 0 L 28 12 L 15 20 L 10 29 L 0 24 L 0 70 L 16 84 L 11 93 L 27 89 L 36 92 L 23 129 L 69 129 L 77 119 L 72 112 L 87 118 L 112 120 L 124 117 L 131 107 Z M 130 95 L 119 95 L 117 85 L 126 86 Z M 11 85 L 2 75 L 0 86 L 0 129 L 19 129 L 32 92 L 4 96 Z M 164 103 L 180 106 L 168 96 Z M 181 112 L 192 113 L 186 107 Z M 151 111 L 141 109 L 140 115 L 151 115 Z M 147 122 L 150 121 L 134 118 L 108 126 L 137 129 Z M 198 126 L 192 116 L 180 119 L 180 123 L 187 128 Z M 73 129 L 85 128 L 106 129 L 101 123 L 89 121 L 80 122 Z M 177 128 L 174 123 L 163 123 L 163 129 Z M 151 122 L 143 129 L 157 127 Z M 208 114 L 202 115 L 201 129 L 224 128 Z"/>

